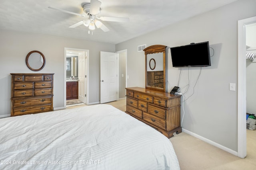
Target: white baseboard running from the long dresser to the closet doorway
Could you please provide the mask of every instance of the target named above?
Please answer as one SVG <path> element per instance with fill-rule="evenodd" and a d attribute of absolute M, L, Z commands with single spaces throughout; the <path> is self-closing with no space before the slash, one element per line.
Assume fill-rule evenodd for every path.
<path fill-rule="evenodd" d="M 234 151 L 234 150 L 232 150 L 232 149 L 229 149 L 229 148 L 227 148 L 227 147 L 224 147 L 224 146 L 222 146 L 222 145 L 220 145 L 220 144 L 218 144 L 218 143 L 216 143 L 216 142 L 213 142 L 213 141 L 211 141 L 211 140 L 209 140 L 209 139 L 206 139 L 206 138 L 204 138 L 204 137 L 202 137 L 202 136 L 200 136 L 200 135 L 197 135 L 196 133 L 190 132 L 190 131 L 188 131 L 188 130 L 186 130 L 186 129 L 183 129 L 183 128 L 182 128 L 182 132 L 188 133 L 188 135 L 191 135 L 191 136 L 193 136 L 193 137 L 196 137 L 196 138 L 198 138 L 198 139 L 200 139 L 200 140 L 202 140 L 202 141 L 204 141 L 204 142 L 206 142 L 206 143 L 209 143 L 210 145 L 213 145 L 214 147 L 220 148 L 220 149 L 222 149 L 222 150 L 225 150 L 226 152 L 229 152 L 229 153 L 231 153 L 231 154 L 234 154 L 235 156 L 238 156 L 238 152 L 236 152 L 236 151 Z"/>

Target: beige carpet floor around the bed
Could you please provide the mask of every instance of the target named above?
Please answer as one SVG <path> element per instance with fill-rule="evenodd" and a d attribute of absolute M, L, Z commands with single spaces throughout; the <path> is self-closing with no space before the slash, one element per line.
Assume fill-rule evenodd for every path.
<path fill-rule="evenodd" d="M 126 110 L 125 98 L 106 104 L 122 111 Z M 170 141 L 181 170 L 256 170 L 256 131 L 247 129 L 247 156 L 244 159 L 184 132 L 178 135 L 174 133 Z"/>

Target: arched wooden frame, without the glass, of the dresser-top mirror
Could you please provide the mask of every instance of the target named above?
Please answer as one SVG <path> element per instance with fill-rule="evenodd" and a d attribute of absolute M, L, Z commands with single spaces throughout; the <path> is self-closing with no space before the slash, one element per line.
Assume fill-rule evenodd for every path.
<path fill-rule="evenodd" d="M 165 86 L 166 86 L 166 66 L 165 66 L 165 53 L 166 53 L 166 47 L 165 45 L 151 45 L 147 48 L 145 48 L 143 51 L 145 51 L 145 86 L 146 89 L 151 89 L 151 90 L 157 90 L 157 91 L 162 91 L 165 92 Z M 163 53 L 163 70 L 164 70 L 164 86 L 163 88 L 157 88 L 157 87 L 152 87 L 148 86 L 147 84 L 147 55 L 148 54 L 154 54 L 154 53 Z"/>

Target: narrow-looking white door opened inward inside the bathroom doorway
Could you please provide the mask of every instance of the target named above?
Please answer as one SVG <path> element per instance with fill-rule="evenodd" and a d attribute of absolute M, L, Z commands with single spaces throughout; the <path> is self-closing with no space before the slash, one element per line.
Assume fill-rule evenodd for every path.
<path fill-rule="evenodd" d="M 78 100 L 86 103 L 86 52 L 78 55 Z"/>

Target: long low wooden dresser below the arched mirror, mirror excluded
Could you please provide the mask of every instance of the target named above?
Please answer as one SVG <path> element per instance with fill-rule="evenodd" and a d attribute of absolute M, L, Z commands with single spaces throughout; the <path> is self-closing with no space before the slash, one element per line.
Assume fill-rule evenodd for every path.
<path fill-rule="evenodd" d="M 180 96 L 140 87 L 126 88 L 126 113 L 166 137 L 180 133 Z"/>

